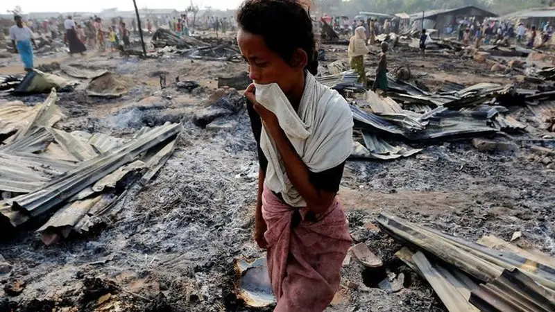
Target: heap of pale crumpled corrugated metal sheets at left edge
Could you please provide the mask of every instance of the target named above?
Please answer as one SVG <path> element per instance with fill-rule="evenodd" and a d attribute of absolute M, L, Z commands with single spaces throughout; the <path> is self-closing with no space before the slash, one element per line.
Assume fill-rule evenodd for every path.
<path fill-rule="evenodd" d="M 0 114 L 15 130 L 0 147 L 0 190 L 14 194 L 0 202 L 0 214 L 19 227 L 56 211 L 38 229 L 46 245 L 101 223 L 133 182 L 148 181 L 160 170 L 180 132 L 179 124 L 167 124 L 129 141 L 65 132 L 52 128 L 62 119 L 57 98 L 53 90 L 42 105 L 22 110 L 15 103 Z"/>

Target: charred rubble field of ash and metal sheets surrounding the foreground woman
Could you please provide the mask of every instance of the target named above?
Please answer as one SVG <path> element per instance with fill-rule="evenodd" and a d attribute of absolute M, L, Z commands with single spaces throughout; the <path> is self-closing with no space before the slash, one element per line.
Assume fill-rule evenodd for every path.
<path fill-rule="evenodd" d="M 98 79 L 91 88 L 118 98 L 83 96 L 89 92 L 84 82 L 75 92 L 58 93 L 56 105 L 43 103 L 46 94 L 15 98 L 6 93 L 7 101 L 0 100 L 0 210 L 14 220 L 28 218 L 13 229 L 6 216 L 0 217 L 11 231 L 2 250 L 8 261 L 0 261 L 0 275 L 3 268 L 9 273 L 3 286 L 24 284 L 15 297 L 0 289 L 0 310 L 273 309 L 268 284 L 250 283 L 263 281 L 250 277 L 264 277 L 264 266 L 241 275 L 233 268 L 241 259 L 264 259 L 251 237 L 255 144 L 244 99 L 235 91 L 250 83 L 246 67 L 234 62 L 239 58 L 230 36 L 185 37 L 183 42 L 184 37 L 159 35 L 158 46 L 147 45 L 152 58 L 87 55 L 78 63 L 57 60 L 59 69 L 42 67 L 63 77 Z M 339 43 L 346 37 L 337 35 Z M 468 253 L 474 257 L 475 246 L 466 247 L 461 240 L 470 243 L 487 234 L 480 244 L 541 263 L 536 272 L 542 278 L 552 274 L 550 204 L 555 197 L 549 181 L 555 168 L 555 67 L 544 55 L 526 61 L 538 51 L 468 48 L 448 38 L 431 44 L 422 59 L 418 46 L 410 47 L 418 36 L 416 31 L 379 38 L 393 48 L 387 96 L 357 83 L 359 77 L 345 59 L 346 46 L 319 46 L 318 80 L 348 99 L 357 123 L 339 195 L 352 237 L 363 244 L 357 247 L 372 250 L 372 259 L 381 263 L 369 268 L 353 250 L 348 252 L 329 312 L 368 306 L 375 311 L 445 312 L 453 306 L 476 311 L 476 306 L 489 305 L 493 310 L 490 299 L 499 302 L 497 289 L 511 297 L 515 291 L 538 291 L 522 277 L 528 274 L 522 265 L 520 274 L 495 270 L 501 277 L 469 278 L 465 270 L 454 268 L 463 261 L 438 259 L 436 250 L 429 252 L 391 236 L 381 224 L 381 229 L 373 225 L 379 212 L 413 221 L 409 227 L 422 225 L 423 230 L 412 232 L 417 238 L 430 232 L 437 236 L 427 236 L 441 236 L 432 228 L 452 234 L 438 240 L 454 247 L 441 245 L 440 251 L 459 248 L 464 259 Z M 183 57 L 194 60 L 179 61 Z M 376 58 L 371 54 L 365 60 L 370 83 Z M 409 74 L 404 70 L 409 69 L 407 60 Z M 494 66 L 499 71 L 491 71 Z M 175 81 L 176 76 L 183 81 Z M 216 77 L 222 78 L 216 83 Z M 14 89 L 22 78 L 2 76 L 1 91 Z M 166 121 L 181 122 L 163 125 Z M 126 157 L 110 152 L 164 129 L 173 135 L 162 144 L 156 136 L 148 139 L 157 145 L 146 153 L 141 148 L 125 150 Z M 113 156 L 103 159 L 113 164 L 110 173 L 91 165 L 86 167 L 90 171 L 72 175 L 101 155 Z M 112 163 L 116 158 L 125 164 Z M 40 197 L 40 191 L 61 192 L 60 202 Z M 56 204 L 44 209 L 36 200 Z M 39 239 L 50 245 L 37 248 Z M 524 239 L 531 243 L 524 245 Z M 477 261 L 472 257 L 467 262 Z M 245 266 L 259 261 L 245 261 Z M 515 288 L 510 283 L 514 279 L 527 288 Z M 245 292 L 265 301 L 252 305 Z"/>

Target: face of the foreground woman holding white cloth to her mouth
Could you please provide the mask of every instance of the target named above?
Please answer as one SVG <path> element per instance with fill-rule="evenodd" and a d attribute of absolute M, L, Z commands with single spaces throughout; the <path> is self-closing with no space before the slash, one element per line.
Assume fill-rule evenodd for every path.
<path fill-rule="evenodd" d="M 248 62 L 248 73 L 254 83 L 266 85 L 277 83 L 284 94 L 299 83 L 304 75 L 307 54 L 304 51 L 293 53 L 293 65 L 271 51 L 264 38 L 239 29 L 237 42 L 243 58 Z"/>

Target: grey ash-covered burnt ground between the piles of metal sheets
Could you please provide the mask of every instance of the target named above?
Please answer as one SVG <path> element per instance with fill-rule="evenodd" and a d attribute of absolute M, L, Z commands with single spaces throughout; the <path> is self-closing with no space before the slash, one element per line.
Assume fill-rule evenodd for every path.
<path fill-rule="evenodd" d="M 393 53 L 392 67 L 405 62 L 405 54 Z M 442 62 L 449 65 L 438 66 Z M 475 83 L 475 71 L 484 71 L 469 61 L 468 73 L 459 73 L 459 62 L 444 57 L 414 63 L 425 66 L 418 71 L 429 71 L 421 80 L 434 89 L 450 77 Z M 244 68 L 181 59 L 102 61 L 108 65 L 121 75 L 133 69 L 130 90 L 135 91 L 109 100 L 89 98 L 79 89 L 60 94 L 58 105 L 67 118 L 58 126 L 131 137 L 143 125 L 182 121 L 176 151 L 157 177 L 142 189 L 130 189 L 110 222 L 87 237 L 46 247 L 36 226 L 3 236 L 0 253 L 13 269 L 0 276 L 0 297 L 19 306 L 17 311 L 51 311 L 52 306 L 83 312 L 271 311 L 249 308 L 233 293 L 234 260 L 264 255 L 251 239 L 257 180 L 248 173 L 256 172 L 257 159 L 248 116 L 241 112 L 219 120 L 235 125 L 230 130 L 202 129 L 191 121 L 217 99 L 214 76 Z M 160 91 L 155 71 L 198 80 L 205 89 Z M 44 96 L 19 99 L 32 104 Z M 521 121 L 525 118 L 523 113 Z M 343 296 L 326 311 L 446 311 L 427 282 L 395 259 L 401 245 L 369 226 L 382 211 L 471 241 L 484 234 L 510 239 L 522 231 L 536 248 L 555 255 L 554 171 L 542 158 L 527 148 L 482 153 L 467 139 L 432 144 L 391 162 L 348 162 L 340 196 L 350 232 L 382 257 L 388 270 L 404 273 L 405 288 L 393 294 L 373 288 L 383 270 L 365 270 L 352 259 L 343 268 Z M 15 281 L 25 283 L 24 291 L 8 297 L 3 288 Z M 365 284 L 370 288 L 356 289 Z"/>

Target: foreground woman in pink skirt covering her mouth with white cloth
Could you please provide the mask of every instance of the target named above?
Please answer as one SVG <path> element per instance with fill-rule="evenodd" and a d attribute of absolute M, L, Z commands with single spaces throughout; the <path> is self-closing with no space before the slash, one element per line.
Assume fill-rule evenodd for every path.
<path fill-rule="evenodd" d="M 237 23 L 254 82 L 245 95 L 260 164 L 255 241 L 267 250 L 274 311 L 321 312 L 351 245 L 336 193 L 352 150 L 352 114 L 313 76 L 312 21 L 300 3 L 246 0 Z"/>

